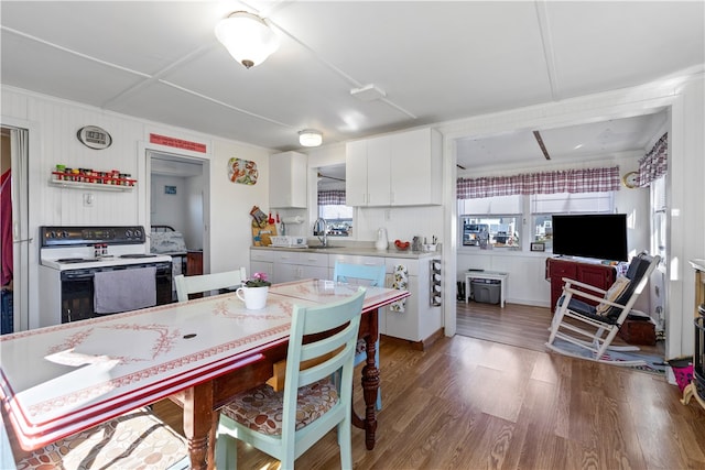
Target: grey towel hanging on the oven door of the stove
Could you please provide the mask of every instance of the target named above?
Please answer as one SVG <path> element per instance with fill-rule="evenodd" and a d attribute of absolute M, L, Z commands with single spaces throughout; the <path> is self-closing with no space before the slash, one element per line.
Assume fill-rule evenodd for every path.
<path fill-rule="evenodd" d="M 99 271 L 93 280 L 94 311 L 117 314 L 156 305 L 156 267 Z"/>

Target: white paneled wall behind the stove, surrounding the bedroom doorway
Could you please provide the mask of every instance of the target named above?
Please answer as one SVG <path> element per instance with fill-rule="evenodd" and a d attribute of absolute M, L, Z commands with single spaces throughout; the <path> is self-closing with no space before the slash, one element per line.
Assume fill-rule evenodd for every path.
<path fill-rule="evenodd" d="M 141 121 L 131 117 L 106 112 L 97 108 L 46 97 L 25 90 L 2 87 L 2 122 L 32 128 L 30 135 L 30 283 L 39 285 L 39 227 L 43 225 L 150 225 L 150 179 L 145 162 L 145 149 L 188 154 L 210 163 L 204 178 L 204 199 L 210 204 L 205 215 L 209 248 L 204 259 L 206 272 L 225 271 L 249 265 L 251 229 L 249 211 L 253 205 L 269 205 L 267 177 L 257 185 L 230 183 L 227 161 L 232 156 L 257 162 L 260 175 L 269 172 L 268 156 L 272 151 L 253 145 L 225 141 L 188 130 Z M 76 139 L 76 131 L 84 125 L 98 125 L 112 136 L 112 145 L 105 150 L 91 150 Z M 149 143 L 150 133 L 199 142 L 205 153 L 175 151 L 173 147 Z M 95 203 L 83 205 L 86 190 L 63 189 L 50 186 L 50 173 L 56 164 L 68 167 L 89 167 L 98 171 L 119 170 L 137 177 L 137 188 L 128 193 L 90 190 Z M 206 165 L 207 167 L 208 165 Z M 163 188 L 162 188 L 163 190 Z M 189 193 L 189 190 L 186 190 Z M 213 197 L 210 197 L 213 195 Z M 265 209 L 267 210 L 267 209 Z M 208 247 L 208 243 L 209 247 Z M 25 325 L 35 328 L 39 317 L 39 288 L 30 291 L 30 318 Z"/>

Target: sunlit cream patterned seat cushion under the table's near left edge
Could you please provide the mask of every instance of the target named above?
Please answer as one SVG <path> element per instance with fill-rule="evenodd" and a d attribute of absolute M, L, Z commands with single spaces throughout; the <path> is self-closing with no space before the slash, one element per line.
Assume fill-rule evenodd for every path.
<path fill-rule="evenodd" d="M 165 469 L 188 457 L 186 440 L 145 408 L 50 444 L 18 470 Z"/>

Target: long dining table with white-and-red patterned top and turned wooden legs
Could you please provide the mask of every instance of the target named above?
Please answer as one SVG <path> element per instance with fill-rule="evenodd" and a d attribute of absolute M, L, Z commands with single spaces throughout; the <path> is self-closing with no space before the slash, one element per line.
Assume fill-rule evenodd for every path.
<path fill-rule="evenodd" d="M 0 402 L 24 450 L 170 397 L 183 406 L 193 469 L 213 468 L 218 408 L 265 383 L 286 357 L 294 305 L 341 300 L 356 285 L 301 280 L 269 287 L 248 310 L 235 291 L 0 337 Z M 403 289 L 366 287 L 359 337 L 365 413 L 354 425 L 375 447 L 379 309 Z M 352 406 L 352 404 L 350 404 Z M 209 445 L 209 438 L 212 439 Z"/>

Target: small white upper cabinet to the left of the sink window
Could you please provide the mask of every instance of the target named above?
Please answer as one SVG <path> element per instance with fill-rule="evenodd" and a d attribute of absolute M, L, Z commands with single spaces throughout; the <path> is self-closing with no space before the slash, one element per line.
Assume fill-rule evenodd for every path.
<path fill-rule="evenodd" d="M 269 206 L 306 208 L 306 155 L 275 153 L 269 157 Z"/>

